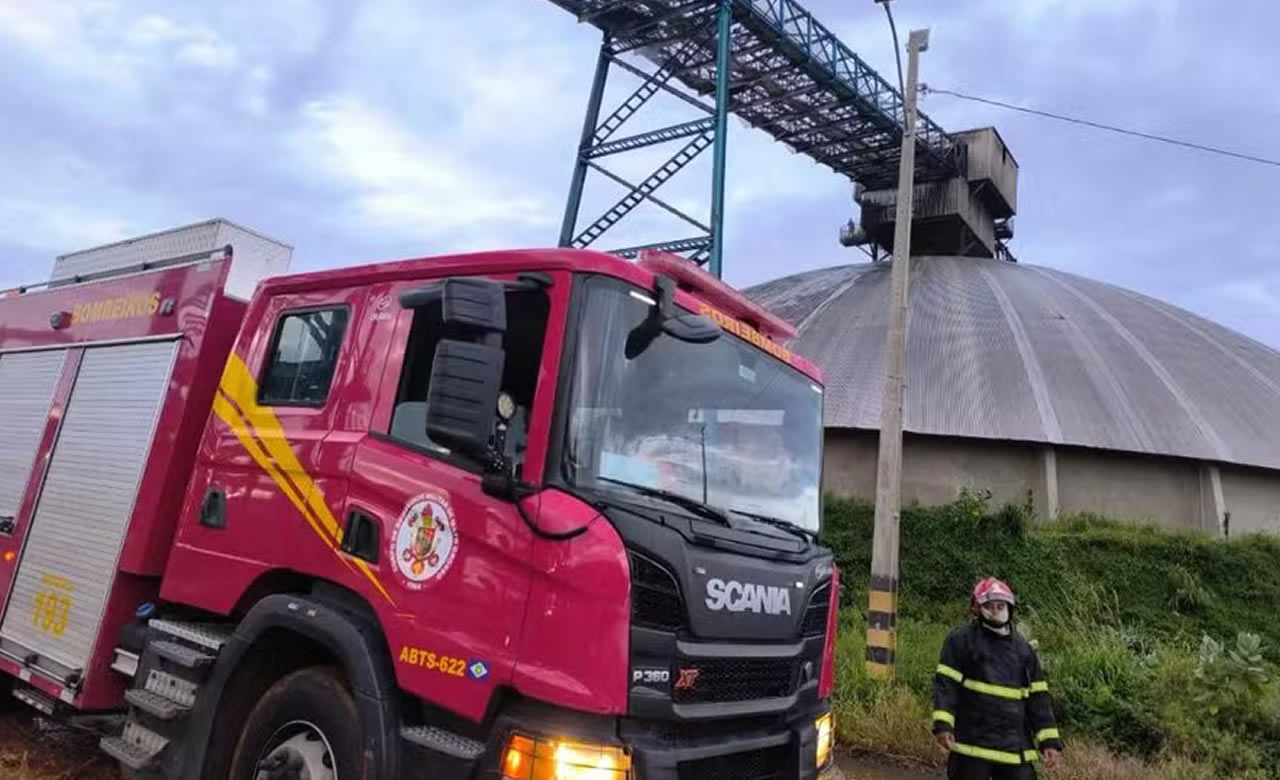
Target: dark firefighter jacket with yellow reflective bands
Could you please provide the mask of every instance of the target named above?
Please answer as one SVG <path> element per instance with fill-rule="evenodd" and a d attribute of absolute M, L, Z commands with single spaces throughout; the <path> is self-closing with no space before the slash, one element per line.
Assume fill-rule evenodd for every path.
<path fill-rule="evenodd" d="M 933 679 L 933 731 L 955 731 L 955 752 L 998 763 L 1062 749 L 1036 649 L 977 620 L 947 634 Z"/>

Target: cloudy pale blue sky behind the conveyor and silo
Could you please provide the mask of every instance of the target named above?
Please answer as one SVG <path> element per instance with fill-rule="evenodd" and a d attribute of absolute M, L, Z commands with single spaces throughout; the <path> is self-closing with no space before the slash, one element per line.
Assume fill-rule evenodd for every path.
<path fill-rule="evenodd" d="M 892 72 L 872 0 L 806 5 Z M 1274 0 L 895 8 L 904 37 L 932 28 L 934 87 L 1280 158 Z M 294 245 L 294 269 L 554 243 L 598 44 L 545 0 L 0 0 L 0 288 L 56 254 L 215 215 Z M 634 86 L 620 76 L 609 96 Z M 1023 261 L 1280 347 L 1280 168 L 922 105 L 947 128 L 1000 128 L 1021 167 Z M 859 260 L 836 243 L 849 183 L 731 131 L 728 280 Z M 704 158 L 662 191 L 699 216 Z M 641 178 L 644 163 L 616 168 Z M 584 216 L 612 187 L 589 188 Z M 636 216 L 616 243 L 684 234 Z"/>

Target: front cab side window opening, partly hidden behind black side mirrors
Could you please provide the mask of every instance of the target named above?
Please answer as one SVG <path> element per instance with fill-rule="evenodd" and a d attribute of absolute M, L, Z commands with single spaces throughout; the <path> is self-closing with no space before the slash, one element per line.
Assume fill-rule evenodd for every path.
<path fill-rule="evenodd" d="M 507 292 L 507 333 L 503 336 L 506 365 L 502 373 L 502 391 L 516 401 L 516 414 L 507 430 L 507 457 L 515 465 L 516 478 L 521 475 L 529 418 L 534 406 L 534 388 L 538 368 L 543 359 L 543 341 L 547 336 L 547 318 L 550 301 L 541 291 Z M 449 451 L 426 435 L 426 393 L 431 380 L 431 362 L 442 338 L 457 334 L 442 321 L 440 302 L 435 301 L 413 313 L 413 325 L 404 350 L 396 406 L 392 411 L 392 438 L 428 450 L 439 456 Z M 497 410 L 494 411 L 497 419 Z M 475 466 L 477 464 L 462 464 Z"/>

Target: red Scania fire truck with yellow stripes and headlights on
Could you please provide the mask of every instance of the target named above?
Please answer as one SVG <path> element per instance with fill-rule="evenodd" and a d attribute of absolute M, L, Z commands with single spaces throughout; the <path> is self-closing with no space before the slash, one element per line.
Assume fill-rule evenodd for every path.
<path fill-rule="evenodd" d="M 125 774 L 823 777 L 822 388 L 681 257 L 0 298 L 0 680 Z"/>

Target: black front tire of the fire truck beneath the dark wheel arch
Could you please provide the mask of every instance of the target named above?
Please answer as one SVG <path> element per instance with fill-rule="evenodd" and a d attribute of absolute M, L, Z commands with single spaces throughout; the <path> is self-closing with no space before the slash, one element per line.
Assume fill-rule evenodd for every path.
<path fill-rule="evenodd" d="M 324 766 L 312 777 L 367 780 L 356 701 L 338 670 L 311 666 L 276 680 L 253 706 L 228 780 L 268 780 L 273 774 L 260 767 L 280 762 L 319 768 L 320 756 Z"/>

